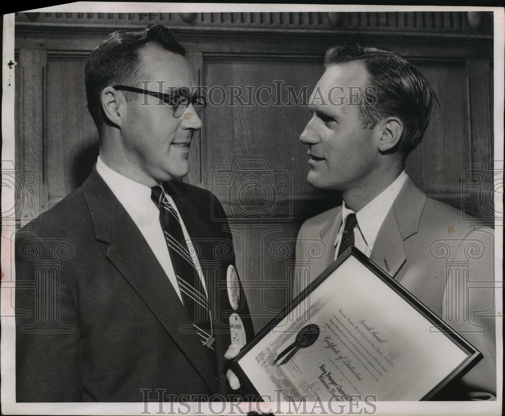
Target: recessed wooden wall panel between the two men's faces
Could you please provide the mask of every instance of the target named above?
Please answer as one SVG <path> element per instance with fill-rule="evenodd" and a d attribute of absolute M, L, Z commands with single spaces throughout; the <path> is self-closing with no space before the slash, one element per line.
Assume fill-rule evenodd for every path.
<path fill-rule="evenodd" d="M 295 95 L 306 91 L 308 98 L 321 73 L 321 63 L 316 61 L 207 62 L 206 85 L 221 88 L 219 93 L 215 89 L 210 101 L 221 104 L 221 91 L 228 99 L 206 109 L 204 186 L 225 205 L 243 199 L 260 209 L 270 195 L 276 198 L 276 204 L 284 205 L 282 210 L 288 210 L 297 198 L 326 195 L 325 191 L 312 189 L 306 181 L 307 148 L 299 142 L 299 135 L 310 113 L 307 107 L 289 98 L 286 88 L 292 88 Z M 234 97 L 231 91 L 235 91 Z M 222 176 L 229 175 L 229 186 L 213 183 L 220 169 L 228 172 Z M 281 176 L 289 181 L 289 188 L 277 183 Z M 249 180 L 251 187 L 238 186 L 242 180 Z M 262 186 L 260 182 L 266 181 L 273 181 L 273 186 Z"/>

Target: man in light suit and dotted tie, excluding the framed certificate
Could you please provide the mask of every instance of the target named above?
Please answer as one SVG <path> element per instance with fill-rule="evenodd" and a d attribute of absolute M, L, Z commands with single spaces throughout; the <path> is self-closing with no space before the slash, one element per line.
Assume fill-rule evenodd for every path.
<path fill-rule="evenodd" d="M 295 282 L 295 295 L 356 246 L 483 354 L 440 398 L 492 399 L 493 230 L 427 198 L 404 170 L 435 101 L 420 71 L 390 51 L 352 44 L 328 50 L 300 141 L 309 148 L 308 182 L 340 191 L 343 203 L 301 226 L 296 258 L 309 270 Z M 315 239 L 325 253 L 311 259 Z"/>

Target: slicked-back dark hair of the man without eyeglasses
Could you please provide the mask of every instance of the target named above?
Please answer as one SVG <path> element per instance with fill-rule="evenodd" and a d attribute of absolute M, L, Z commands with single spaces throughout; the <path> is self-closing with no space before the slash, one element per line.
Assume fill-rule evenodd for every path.
<path fill-rule="evenodd" d="M 398 117 L 403 122 L 399 150 L 409 155 L 421 142 L 438 103 L 435 93 L 414 65 L 388 49 L 343 43 L 328 49 L 324 66 L 357 60 L 365 65 L 377 97 L 375 105 L 360 107 L 362 126 L 374 128 L 387 116 Z"/>

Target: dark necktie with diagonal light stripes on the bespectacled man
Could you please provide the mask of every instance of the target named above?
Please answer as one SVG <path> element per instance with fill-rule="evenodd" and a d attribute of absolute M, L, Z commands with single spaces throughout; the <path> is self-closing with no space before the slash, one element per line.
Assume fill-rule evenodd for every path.
<path fill-rule="evenodd" d="M 179 215 L 161 185 L 151 188 L 151 199 L 160 209 L 160 222 L 184 307 L 201 343 L 214 349 L 209 299 L 189 253 Z"/>

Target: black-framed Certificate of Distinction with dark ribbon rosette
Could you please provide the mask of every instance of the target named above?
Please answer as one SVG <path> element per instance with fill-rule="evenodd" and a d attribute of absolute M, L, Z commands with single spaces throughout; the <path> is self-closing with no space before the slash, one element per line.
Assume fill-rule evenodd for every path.
<path fill-rule="evenodd" d="M 396 401 L 429 399 L 481 358 L 353 247 L 274 318 L 235 363 L 244 388 L 259 396 Z"/>

